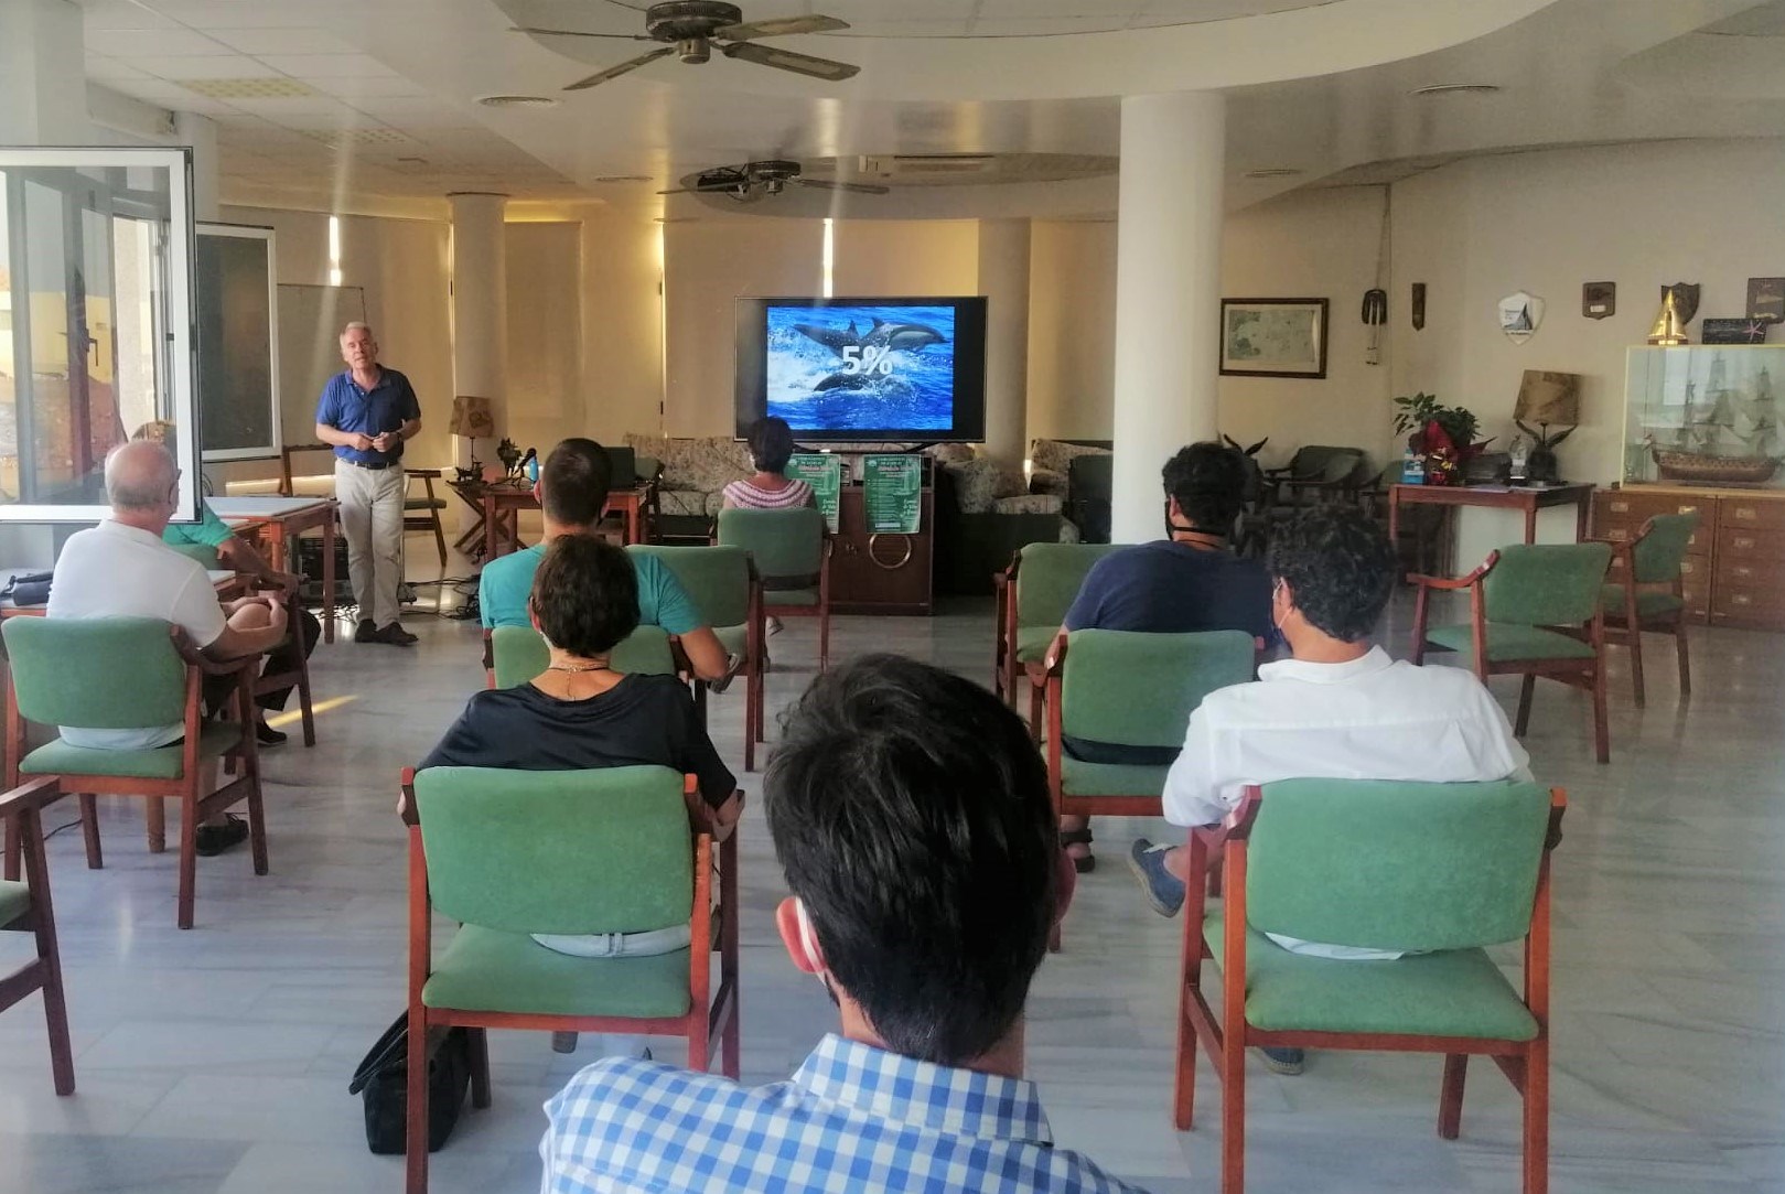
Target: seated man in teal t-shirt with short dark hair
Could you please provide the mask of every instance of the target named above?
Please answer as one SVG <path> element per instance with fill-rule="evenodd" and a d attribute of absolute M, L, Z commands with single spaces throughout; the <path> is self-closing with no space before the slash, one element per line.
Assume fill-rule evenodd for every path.
<path fill-rule="evenodd" d="M 546 544 L 559 535 L 589 534 L 602 518 L 610 477 L 607 450 L 593 439 L 566 439 L 552 450 L 534 485 L 544 514 L 541 543 L 484 564 L 477 603 L 486 630 L 532 625 L 527 598 L 534 591 L 534 571 L 546 555 Z M 728 671 L 725 646 L 694 609 L 682 582 L 657 557 L 628 555 L 639 576 L 639 623 L 678 635 L 702 680 L 723 678 Z"/>

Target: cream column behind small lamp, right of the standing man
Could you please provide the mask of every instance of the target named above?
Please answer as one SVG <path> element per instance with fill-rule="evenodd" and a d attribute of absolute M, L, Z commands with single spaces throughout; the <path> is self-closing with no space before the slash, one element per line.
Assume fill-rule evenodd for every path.
<path fill-rule="evenodd" d="M 507 377 L 509 266 L 503 250 L 505 195 L 448 195 L 452 202 L 452 373 L 453 394 L 489 398 L 496 439 L 478 441 L 478 459 L 496 459 L 496 441 L 509 434 Z M 436 418 L 444 419 L 450 403 Z M 468 443 L 455 437 L 453 452 L 469 464 Z"/>

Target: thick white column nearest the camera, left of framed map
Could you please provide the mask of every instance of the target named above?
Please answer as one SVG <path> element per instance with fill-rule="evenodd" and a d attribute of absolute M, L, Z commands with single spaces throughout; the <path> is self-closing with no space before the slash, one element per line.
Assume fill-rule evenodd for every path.
<path fill-rule="evenodd" d="M 1116 227 L 1116 543 L 1162 532 L 1158 471 L 1216 435 L 1226 98 L 1121 102 Z"/>

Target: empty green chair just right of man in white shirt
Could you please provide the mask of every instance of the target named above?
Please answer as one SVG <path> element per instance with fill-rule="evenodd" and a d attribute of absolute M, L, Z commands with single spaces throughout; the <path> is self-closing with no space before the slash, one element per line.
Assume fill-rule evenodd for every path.
<path fill-rule="evenodd" d="M 1467 576 L 1410 576 L 1419 585 L 1414 601 L 1414 662 L 1426 650 L 1462 651 L 1482 684 L 1496 675 L 1523 676 L 1515 734 L 1532 719 L 1537 676 L 1560 680 L 1592 696 L 1592 742 L 1599 762 L 1610 762 L 1605 721 L 1605 616 L 1601 594 L 1612 548 L 1605 543 L 1514 544 L 1490 553 Z M 1467 589 L 1469 623 L 1430 628 L 1433 589 Z"/>

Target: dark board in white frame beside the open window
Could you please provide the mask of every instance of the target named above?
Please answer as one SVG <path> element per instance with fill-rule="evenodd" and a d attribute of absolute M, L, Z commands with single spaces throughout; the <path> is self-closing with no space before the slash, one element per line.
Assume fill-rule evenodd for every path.
<path fill-rule="evenodd" d="M 278 455 L 278 277 L 273 230 L 195 225 L 198 432 L 205 462 Z"/>

